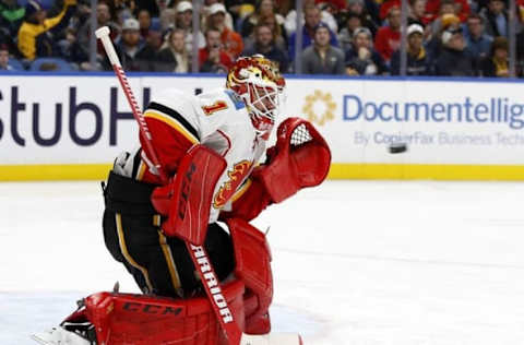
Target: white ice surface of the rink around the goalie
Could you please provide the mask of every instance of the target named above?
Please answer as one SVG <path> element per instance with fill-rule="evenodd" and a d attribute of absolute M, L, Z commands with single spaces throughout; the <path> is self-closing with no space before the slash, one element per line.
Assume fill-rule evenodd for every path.
<path fill-rule="evenodd" d="M 254 224 L 275 331 L 319 345 L 524 344 L 524 183 L 327 181 Z M 138 292 L 106 251 L 97 182 L 0 183 L 0 345 L 75 300 Z M 35 343 L 36 344 L 36 343 Z"/>

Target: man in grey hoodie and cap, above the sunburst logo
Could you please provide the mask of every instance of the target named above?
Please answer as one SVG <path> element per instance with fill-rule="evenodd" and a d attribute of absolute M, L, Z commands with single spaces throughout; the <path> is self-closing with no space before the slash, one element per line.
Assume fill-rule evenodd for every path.
<path fill-rule="evenodd" d="M 302 73 L 344 74 L 344 51 L 330 45 L 330 28 L 320 23 L 313 31 L 313 44 L 303 49 Z"/>

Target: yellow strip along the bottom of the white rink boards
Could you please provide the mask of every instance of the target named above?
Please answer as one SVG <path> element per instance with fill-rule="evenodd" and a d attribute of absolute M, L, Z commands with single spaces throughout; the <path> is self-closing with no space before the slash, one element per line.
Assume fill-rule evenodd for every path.
<path fill-rule="evenodd" d="M 110 164 L 0 165 L 0 181 L 104 180 L 110 169 Z M 336 163 L 327 178 L 523 181 L 524 165 Z"/>

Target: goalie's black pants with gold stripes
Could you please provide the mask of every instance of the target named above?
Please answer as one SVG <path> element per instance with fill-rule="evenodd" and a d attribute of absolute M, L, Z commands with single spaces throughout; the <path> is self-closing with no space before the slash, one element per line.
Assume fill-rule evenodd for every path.
<path fill-rule="evenodd" d="M 104 240 L 115 260 L 123 263 L 145 294 L 191 297 L 200 278 L 186 248 L 160 229 L 150 197 L 155 186 L 114 174 L 104 188 Z M 217 223 L 209 225 L 204 247 L 221 281 L 234 270 L 233 243 Z"/>

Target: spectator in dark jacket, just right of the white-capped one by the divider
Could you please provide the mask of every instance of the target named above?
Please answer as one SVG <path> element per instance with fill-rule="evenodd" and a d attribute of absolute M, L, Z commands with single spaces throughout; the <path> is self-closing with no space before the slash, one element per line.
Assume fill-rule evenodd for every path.
<path fill-rule="evenodd" d="M 462 28 L 442 33 L 443 49 L 436 61 L 437 75 L 475 76 L 474 60 L 466 48 Z"/>

